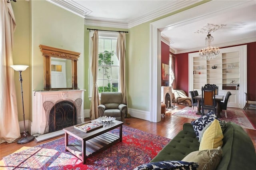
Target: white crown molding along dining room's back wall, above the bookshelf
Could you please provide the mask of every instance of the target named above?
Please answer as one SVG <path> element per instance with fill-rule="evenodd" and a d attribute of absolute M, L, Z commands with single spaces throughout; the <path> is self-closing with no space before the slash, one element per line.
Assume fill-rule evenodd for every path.
<path fill-rule="evenodd" d="M 219 48 L 223 48 L 223 47 L 229 47 L 229 46 L 233 46 L 233 45 L 242 45 L 242 44 L 245 44 L 245 43 L 252 43 L 252 42 L 256 42 L 256 36 L 249 37 L 249 38 L 238 39 L 238 40 L 235 40 L 235 41 L 232 41 L 232 42 L 224 42 L 224 43 L 216 44 L 216 46 L 219 47 Z M 173 52 L 174 54 L 180 54 L 180 53 L 190 53 L 190 52 L 194 52 L 194 51 L 199 51 L 202 48 L 205 48 L 205 47 L 197 47 L 197 48 L 191 48 L 191 49 L 181 49 L 181 50 L 178 50 L 178 51 L 175 50 L 175 49 L 172 49 L 172 50 L 174 51 Z"/>

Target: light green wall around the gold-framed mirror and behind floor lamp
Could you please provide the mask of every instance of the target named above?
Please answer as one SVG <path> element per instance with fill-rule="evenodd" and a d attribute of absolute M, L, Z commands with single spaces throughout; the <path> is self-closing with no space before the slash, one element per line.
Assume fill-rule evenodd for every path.
<path fill-rule="evenodd" d="M 84 19 L 45 0 L 12 2 L 17 28 L 14 33 L 14 64 L 30 67 L 22 72 L 25 119 L 32 121 L 33 91 L 44 88 L 43 57 L 39 45 L 80 52 L 78 87 L 84 89 Z M 15 74 L 17 97 L 20 97 L 18 73 Z M 21 98 L 18 117 L 22 121 Z M 28 114 L 30 113 L 30 114 Z"/>

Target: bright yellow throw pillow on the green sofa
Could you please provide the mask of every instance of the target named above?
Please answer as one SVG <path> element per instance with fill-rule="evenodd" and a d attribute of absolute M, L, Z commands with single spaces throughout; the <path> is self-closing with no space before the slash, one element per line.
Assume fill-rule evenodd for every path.
<path fill-rule="evenodd" d="M 208 127 L 200 142 L 199 150 L 214 149 L 223 144 L 223 134 L 220 127 L 220 123 L 215 119 L 210 127 Z"/>

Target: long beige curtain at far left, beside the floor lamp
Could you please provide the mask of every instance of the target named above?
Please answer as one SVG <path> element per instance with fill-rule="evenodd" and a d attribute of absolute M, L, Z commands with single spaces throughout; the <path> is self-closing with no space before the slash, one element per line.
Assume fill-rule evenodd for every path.
<path fill-rule="evenodd" d="M 0 1 L 0 143 L 20 138 L 12 46 L 16 27 L 11 3 Z"/>

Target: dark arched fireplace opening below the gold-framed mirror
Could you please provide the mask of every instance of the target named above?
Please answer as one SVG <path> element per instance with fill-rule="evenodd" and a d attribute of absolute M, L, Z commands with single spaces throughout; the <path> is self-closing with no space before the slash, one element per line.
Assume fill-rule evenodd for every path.
<path fill-rule="evenodd" d="M 76 125 L 76 107 L 70 101 L 60 101 L 49 114 L 49 132 Z"/>

